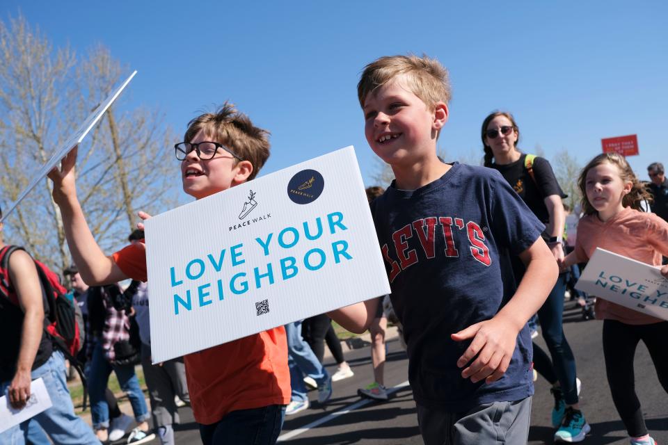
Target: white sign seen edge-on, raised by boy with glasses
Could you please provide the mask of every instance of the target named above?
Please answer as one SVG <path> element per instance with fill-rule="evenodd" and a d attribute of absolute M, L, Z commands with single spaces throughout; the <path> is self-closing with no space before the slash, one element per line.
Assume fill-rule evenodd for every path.
<path fill-rule="evenodd" d="M 118 97 L 123 88 L 125 88 L 125 86 L 127 86 L 127 84 L 130 83 L 135 74 L 137 74 L 136 70 L 132 74 L 130 74 L 130 76 L 127 79 L 125 79 L 125 82 L 123 82 L 118 88 L 116 88 L 116 90 L 113 90 L 109 94 L 109 96 L 107 96 L 106 99 L 104 99 L 104 102 L 102 102 L 99 106 L 97 106 L 97 108 L 95 108 L 95 111 L 93 111 L 93 113 L 90 113 L 88 118 L 86 118 L 84 123 L 79 126 L 77 131 L 74 131 L 74 133 L 72 133 L 72 136 L 67 138 L 67 140 L 65 140 L 65 142 L 62 143 L 60 147 L 58 147 L 58 149 L 56 149 L 56 151 L 51 156 L 49 161 L 47 161 L 47 163 L 45 163 L 42 166 L 42 168 L 37 173 L 35 173 L 35 175 L 31 176 L 33 180 L 30 182 L 30 184 L 28 184 L 28 186 L 24 189 L 24 191 L 22 191 L 19 194 L 17 200 L 12 204 L 10 204 L 8 210 L 6 212 L 3 212 L 3 216 L 2 218 L 0 218 L 0 222 L 3 221 L 5 218 L 7 218 L 7 216 L 10 213 L 12 213 L 12 211 L 17 207 L 17 205 L 19 205 L 19 202 L 21 202 L 23 198 L 26 197 L 26 195 L 28 195 L 28 193 L 33 189 L 33 187 L 37 185 L 38 182 L 41 181 L 47 175 L 47 173 L 49 173 L 51 170 L 54 169 L 54 167 L 56 167 L 56 165 L 58 165 L 61 159 L 67 156 L 67 153 L 69 153 L 70 150 L 74 148 L 75 145 L 80 144 L 81 141 L 84 140 L 84 138 L 88 134 L 88 131 L 93 129 L 95 124 L 97 124 L 97 121 L 100 120 L 100 118 L 102 118 L 102 115 L 104 114 L 106 109 L 109 108 L 109 106 L 111 106 L 113 101 L 116 100 L 116 97 Z"/>

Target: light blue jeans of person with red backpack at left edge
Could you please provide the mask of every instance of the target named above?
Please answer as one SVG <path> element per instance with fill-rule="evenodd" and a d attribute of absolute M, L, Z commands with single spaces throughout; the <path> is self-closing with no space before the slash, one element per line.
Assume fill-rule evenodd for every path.
<path fill-rule="evenodd" d="M 54 351 L 45 364 L 31 373 L 33 380 L 42 378 L 53 404 L 48 410 L 40 412 L 31 419 L 0 433 L 0 444 L 23 445 L 26 443 L 29 423 L 37 423 L 44 428 L 56 444 L 100 445 L 93 430 L 79 416 L 74 414 L 74 405 L 67 390 L 65 380 L 65 358 L 60 351 Z M 2 382 L 2 394 L 11 382 Z M 31 428 L 32 429 L 32 428 Z"/>

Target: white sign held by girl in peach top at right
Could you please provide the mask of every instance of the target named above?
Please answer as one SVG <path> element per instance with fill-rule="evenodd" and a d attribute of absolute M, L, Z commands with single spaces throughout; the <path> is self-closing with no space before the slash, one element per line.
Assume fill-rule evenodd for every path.
<path fill-rule="evenodd" d="M 668 320 L 668 280 L 641 261 L 597 248 L 575 289 Z"/>

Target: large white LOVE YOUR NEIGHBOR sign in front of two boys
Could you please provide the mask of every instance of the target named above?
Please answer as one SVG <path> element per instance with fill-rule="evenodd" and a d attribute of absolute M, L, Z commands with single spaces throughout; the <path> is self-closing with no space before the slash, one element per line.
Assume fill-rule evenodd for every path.
<path fill-rule="evenodd" d="M 145 223 L 154 362 L 390 293 L 353 147 Z"/>

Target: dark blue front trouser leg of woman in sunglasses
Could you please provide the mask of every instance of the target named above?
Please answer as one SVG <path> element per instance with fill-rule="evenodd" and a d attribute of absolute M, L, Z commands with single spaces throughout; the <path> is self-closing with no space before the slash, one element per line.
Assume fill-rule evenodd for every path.
<path fill-rule="evenodd" d="M 575 387 L 575 356 L 564 334 L 564 292 L 566 273 L 559 274 L 557 284 L 550 292 L 543 307 L 538 310 L 543 339 L 548 345 L 555 374 L 562 387 L 564 401 L 568 405 L 578 403 L 578 389 Z"/>

